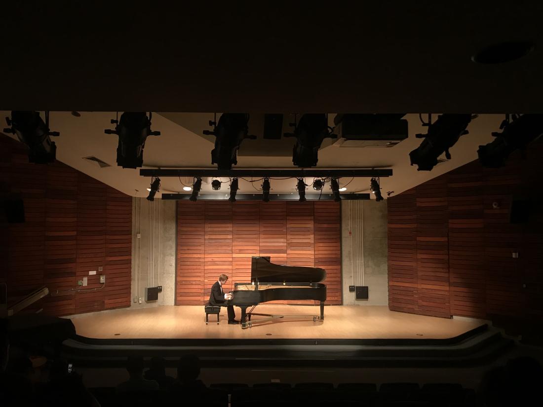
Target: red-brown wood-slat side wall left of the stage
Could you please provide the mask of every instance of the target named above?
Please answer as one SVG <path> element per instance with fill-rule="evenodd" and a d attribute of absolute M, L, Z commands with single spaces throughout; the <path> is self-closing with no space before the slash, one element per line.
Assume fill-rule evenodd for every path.
<path fill-rule="evenodd" d="M 69 315 L 129 307 L 131 197 L 60 162 L 30 164 L 26 147 L 9 137 L 0 136 L 0 151 L 2 197 L 22 198 L 26 217 L 21 224 L 2 220 L 8 250 L 0 282 L 8 284 L 8 303 L 45 285 L 50 294 L 27 311 Z M 84 276 L 87 287 L 78 286 Z"/>

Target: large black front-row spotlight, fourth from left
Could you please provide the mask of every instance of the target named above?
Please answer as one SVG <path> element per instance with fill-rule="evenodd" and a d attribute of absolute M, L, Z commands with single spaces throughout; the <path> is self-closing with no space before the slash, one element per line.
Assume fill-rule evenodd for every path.
<path fill-rule="evenodd" d="M 296 137 L 292 152 L 292 162 L 298 167 L 314 167 L 319 161 L 318 152 L 323 139 L 337 138 L 328 126 L 324 113 L 302 115 L 300 122 L 291 123 L 294 133 L 285 133 L 285 137 Z"/>

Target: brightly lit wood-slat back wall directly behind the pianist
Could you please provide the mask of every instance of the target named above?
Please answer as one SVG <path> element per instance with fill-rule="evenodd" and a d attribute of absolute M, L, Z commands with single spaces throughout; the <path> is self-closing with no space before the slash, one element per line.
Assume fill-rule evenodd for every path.
<path fill-rule="evenodd" d="M 222 273 L 227 291 L 249 282 L 252 256 L 325 269 L 326 303 L 341 303 L 339 203 L 179 201 L 177 219 L 176 304 L 207 302 Z"/>

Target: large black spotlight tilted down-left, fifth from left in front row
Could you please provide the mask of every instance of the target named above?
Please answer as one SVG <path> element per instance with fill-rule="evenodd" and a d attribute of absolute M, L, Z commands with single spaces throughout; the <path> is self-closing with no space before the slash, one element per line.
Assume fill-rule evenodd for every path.
<path fill-rule="evenodd" d="M 418 171 L 430 171 L 438 163 L 438 157 L 445 152 L 447 160 L 451 159 L 449 149 L 458 141 L 460 136 L 468 134 L 468 124 L 477 116 L 471 114 L 439 115 L 432 124 L 431 117 L 428 123 L 427 134 L 417 134 L 416 138 L 424 138 L 418 148 L 409 153 L 411 165 L 416 164 Z"/>

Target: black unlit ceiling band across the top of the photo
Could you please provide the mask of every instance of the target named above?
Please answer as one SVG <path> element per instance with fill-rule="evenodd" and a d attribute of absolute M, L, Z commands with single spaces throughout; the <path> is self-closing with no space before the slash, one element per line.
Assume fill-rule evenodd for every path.
<path fill-rule="evenodd" d="M 540 112 L 543 3 L 481 3 L 10 2 L 0 109 Z"/>

